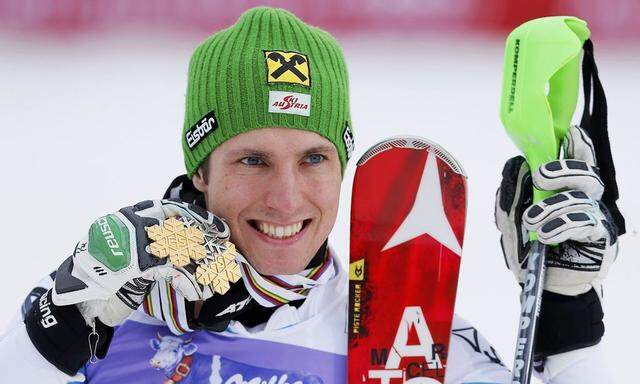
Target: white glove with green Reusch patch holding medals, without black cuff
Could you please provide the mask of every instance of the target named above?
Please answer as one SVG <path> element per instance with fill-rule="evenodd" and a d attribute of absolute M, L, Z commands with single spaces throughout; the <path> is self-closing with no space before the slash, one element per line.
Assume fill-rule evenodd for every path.
<path fill-rule="evenodd" d="M 167 258 L 149 253 L 145 230 L 165 219 L 213 226 L 220 238 L 229 237 L 229 227 L 210 212 L 172 200 L 143 201 L 96 220 L 56 273 L 55 305 L 77 304 L 91 324 L 98 318 L 108 326 L 126 319 L 156 280 L 169 280 L 187 300 L 206 300 L 213 295 L 209 285 L 196 281 L 191 265 L 177 267 Z"/>

